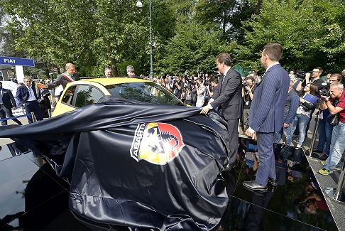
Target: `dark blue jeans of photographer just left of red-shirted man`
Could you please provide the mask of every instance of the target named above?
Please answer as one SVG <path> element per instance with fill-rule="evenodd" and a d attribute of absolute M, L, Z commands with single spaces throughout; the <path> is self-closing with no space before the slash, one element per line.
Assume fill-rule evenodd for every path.
<path fill-rule="evenodd" d="M 317 129 L 319 133 L 319 143 L 317 144 L 317 150 L 323 151 L 327 156 L 329 156 L 329 148 L 331 146 L 332 129 L 333 127 L 329 126 L 327 119 L 319 119 L 319 128 Z M 326 146 L 324 146 L 324 144 L 326 144 Z"/>

